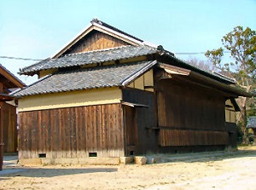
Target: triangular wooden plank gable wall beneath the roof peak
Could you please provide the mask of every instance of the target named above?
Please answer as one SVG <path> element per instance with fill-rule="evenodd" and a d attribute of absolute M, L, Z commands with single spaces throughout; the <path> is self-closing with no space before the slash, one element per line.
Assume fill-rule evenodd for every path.
<path fill-rule="evenodd" d="M 118 38 L 111 37 L 102 32 L 91 32 L 90 35 L 86 36 L 84 39 L 80 40 L 79 43 L 75 44 L 72 49 L 67 50 L 65 54 L 73 54 L 98 49 L 109 49 L 122 45 L 129 45 L 129 43 L 125 43 Z"/>

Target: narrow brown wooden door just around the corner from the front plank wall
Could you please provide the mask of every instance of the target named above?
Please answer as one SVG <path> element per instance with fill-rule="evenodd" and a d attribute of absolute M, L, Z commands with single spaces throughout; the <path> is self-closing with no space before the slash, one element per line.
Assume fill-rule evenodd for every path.
<path fill-rule="evenodd" d="M 124 106 L 125 110 L 125 156 L 137 154 L 137 114 L 135 107 Z"/>

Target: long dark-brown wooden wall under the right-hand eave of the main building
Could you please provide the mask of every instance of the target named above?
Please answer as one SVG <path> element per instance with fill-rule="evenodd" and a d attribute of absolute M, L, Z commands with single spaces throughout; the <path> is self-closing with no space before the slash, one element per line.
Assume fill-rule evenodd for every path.
<path fill-rule="evenodd" d="M 156 83 L 160 146 L 228 144 L 224 97 L 174 79 Z"/>

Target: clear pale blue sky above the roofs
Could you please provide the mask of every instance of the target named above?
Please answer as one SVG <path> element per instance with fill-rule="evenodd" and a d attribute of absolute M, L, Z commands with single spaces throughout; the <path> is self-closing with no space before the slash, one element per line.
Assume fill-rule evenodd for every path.
<path fill-rule="evenodd" d="M 235 26 L 256 30 L 256 0 L 0 0 L 0 56 L 45 59 L 98 18 L 175 53 L 218 49 Z M 204 55 L 178 55 L 183 60 Z M 1 59 L 19 76 L 36 61 Z"/>

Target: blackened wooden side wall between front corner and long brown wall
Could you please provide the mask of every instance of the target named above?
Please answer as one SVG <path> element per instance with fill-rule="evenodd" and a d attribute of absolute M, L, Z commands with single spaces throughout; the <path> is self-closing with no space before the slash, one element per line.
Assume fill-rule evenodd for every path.
<path fill-rule="evenodd" d="M 129 149 L 129 143 L 134 141 L 133 145 L 136 146 L 134 147 L 136 154 L 156 152 L 158 148 L 158 131 L 153 130 L 157 125 L 154 93 L 140 89 L 125 88 L 123 89 L 123 100 L 148 106 L 132 107 L 132 109 L 127 108 L 125 110 L 126 149 Z M 130 117 L 128 117 L 129 115 Z M 129 150 L 126 153 L 129 156 Z"/>

